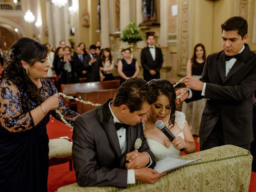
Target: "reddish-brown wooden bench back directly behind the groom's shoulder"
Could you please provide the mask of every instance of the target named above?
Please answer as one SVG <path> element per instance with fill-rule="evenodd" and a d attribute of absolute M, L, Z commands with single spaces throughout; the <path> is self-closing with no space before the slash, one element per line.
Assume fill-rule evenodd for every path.
<path fill-rule="evenodd" d="M 98 90 L 96 92 L 88 92 L 88 93 L 77 93 L 77 98 L 82 99 L 84 101 L 90 101 L 94 104 L 104 104 L 108 99 L 114 98 L 116 89 L 107 89 L 107 90 Z M 77 112 L 82 114 L 86 111 L 96 108 L 90 104 L 83 104 L 77 101 Z"/>

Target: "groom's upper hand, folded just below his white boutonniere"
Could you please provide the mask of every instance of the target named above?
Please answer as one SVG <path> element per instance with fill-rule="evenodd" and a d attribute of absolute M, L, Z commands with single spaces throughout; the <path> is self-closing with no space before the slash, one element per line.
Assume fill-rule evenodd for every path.
<path fill-rule="evenodd" d="M 127 169 L 144 168 L 150 162 L 148 154 L 140 153 L 138 150 L 126 154 L 126 160 L 128 161 L 128 163 L 125 164 Z"/>

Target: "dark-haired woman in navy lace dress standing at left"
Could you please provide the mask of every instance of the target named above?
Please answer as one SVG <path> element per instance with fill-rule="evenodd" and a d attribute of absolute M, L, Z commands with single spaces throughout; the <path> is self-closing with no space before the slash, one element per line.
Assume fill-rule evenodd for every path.
<path fill-rule="evenodd" d="M 60 110 L 71 124 L 69 110 L 47 77 L 48 50 L 30 38 L 12 45 L 11 60 L 0 81 L 0 191 L 46 192 L 49 168 L 50 114 Z"/>

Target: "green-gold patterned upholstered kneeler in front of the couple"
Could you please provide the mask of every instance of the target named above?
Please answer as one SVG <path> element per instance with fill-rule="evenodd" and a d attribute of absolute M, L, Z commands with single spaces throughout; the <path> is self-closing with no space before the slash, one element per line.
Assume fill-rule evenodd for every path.
<path fill-rule="evenodd" d="M 248 191 L 252 155 L 243 148 L 225 145 L 180 156 L 181 159 L 202 158 L 194 163 L 168 172 L 154 184 L 138 182 L 126 189 L 114 187 L 80 187 L 73 183 L 57 192 L 128 192 L 128 191 Z"/>

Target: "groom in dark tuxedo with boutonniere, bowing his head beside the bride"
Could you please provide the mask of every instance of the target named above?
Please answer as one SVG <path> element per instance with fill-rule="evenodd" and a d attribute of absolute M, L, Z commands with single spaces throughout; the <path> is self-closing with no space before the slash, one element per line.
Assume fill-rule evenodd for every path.
<path fill-rule="evenodd" d="M 125 188 L 135 180 L 154 183 L 165 174 L 152 169 L 156 162 L 142 127 L 156 100 L 144 80 L 132 78 L 120 86 L 113 100 L 77 118 L 72 151 L 80 186 Z"/>

